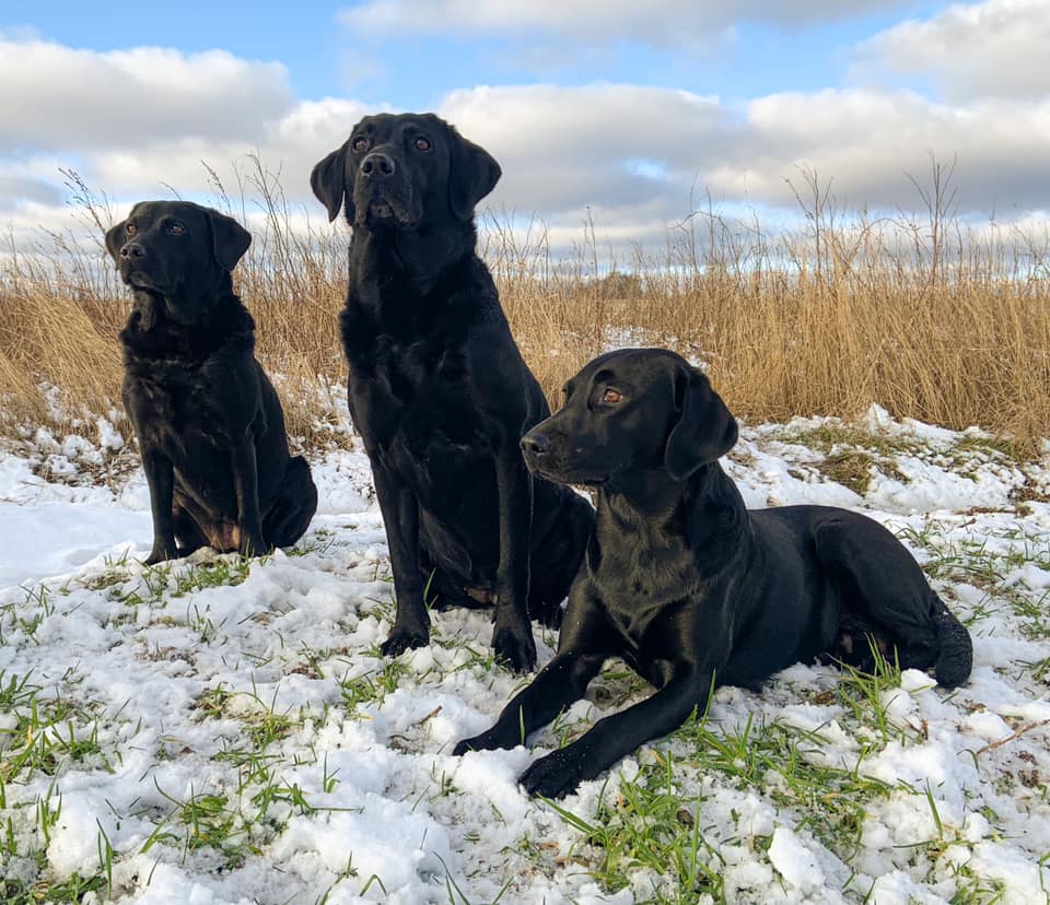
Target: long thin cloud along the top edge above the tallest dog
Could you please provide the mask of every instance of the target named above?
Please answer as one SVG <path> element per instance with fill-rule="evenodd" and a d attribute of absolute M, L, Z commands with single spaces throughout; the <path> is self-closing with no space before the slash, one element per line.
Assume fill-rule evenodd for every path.
<path fill-rule="evenodd" d="M 355 37 L 405 33 L 552 36 L 580 44 L 623 38 L 655 45 L 707 40 L 744 21 L 802 25 L 902 5 L 901 0 L 365 0 L 339 13 Z"/>

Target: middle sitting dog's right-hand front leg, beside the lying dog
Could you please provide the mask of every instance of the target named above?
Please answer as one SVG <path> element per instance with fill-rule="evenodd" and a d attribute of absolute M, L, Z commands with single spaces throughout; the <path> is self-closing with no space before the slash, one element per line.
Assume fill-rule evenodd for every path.
<path fill-rule="evenodd" d="M 528 619 L 529 532 L 533 527 L 533 477 L 517 440 L 497 452 L 500 506 L 500 566 L 497 573 L 492 649 L 515 672 L 536 666 L 536 640 Z"/>

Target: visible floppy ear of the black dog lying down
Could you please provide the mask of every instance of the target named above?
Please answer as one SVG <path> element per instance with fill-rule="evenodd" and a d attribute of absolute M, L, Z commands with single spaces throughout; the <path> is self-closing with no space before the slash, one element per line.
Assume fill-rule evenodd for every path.
<path fill-rule="evenodd" d="M 715 461 L 736 443 L 736 419 L 699 368 L 685 363 L 675 373 L 678 423 L 667 435 L 664 465 L 676 481 L 685 481 L 700 466 Z"/>

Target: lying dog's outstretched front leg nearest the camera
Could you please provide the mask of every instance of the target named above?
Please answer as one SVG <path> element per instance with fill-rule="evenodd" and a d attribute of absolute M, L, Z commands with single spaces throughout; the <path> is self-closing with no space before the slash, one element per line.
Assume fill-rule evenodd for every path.
<path fill-rule="evenodd" d="M 693 707 L 707 701 L 713 675 L 689 670 L 674 677 L 652 697 L 598 720 L 572 744 L 548 754 L 522 774 L 529 795 L 561 798 L 594 779 L 639 745 L 673 732 Z"/>

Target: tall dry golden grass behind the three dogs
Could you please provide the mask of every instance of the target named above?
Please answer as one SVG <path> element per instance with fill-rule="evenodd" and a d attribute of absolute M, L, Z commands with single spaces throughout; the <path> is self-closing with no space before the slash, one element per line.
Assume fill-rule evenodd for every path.
<path fill-rule="evenodd" d="M 851 418 L 877 402 L 1031 447 L 1050 436 L 1050 242 L 961 223 L 949 176 L 934 164 L 931 186 L 917 187 L 926 205 L 919 219 L 841 211 L 808 176 L 795 232 L 731 222 L 709 207 L 668 231 L 658 255 L 635 249 L 623 261 L 603 251 L 593 224 L 559 258 L 538 221 L 521 230 L 489 218 L 481 248 L 552 400 L 610 345 L 660 344 L 703 361 L 748 419 Z M 318 423 L 345 376 L 337 315 L 348 235 L 293 226 L 298 214 L 260 164 L 247 189 L 236 203 L 219 192 L 234 214 L 264 214 L 235 279 L 259 356 L 281 375 L 290 432 L 308 447 L 330 436 Z M 61 389 L 68 418 L 119 406 L 116 333 L 128 306 L 101 246 L 113 212 L 86 189 L 81 200 L 97 249 L 52 237 L 32 256 L 11 249 L 0 273 L 8 434 L 54 416 L 42 384 Z"/>

